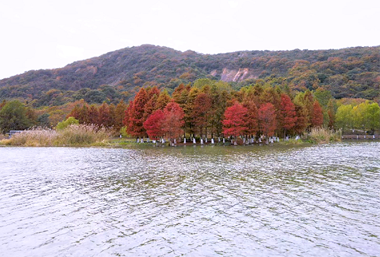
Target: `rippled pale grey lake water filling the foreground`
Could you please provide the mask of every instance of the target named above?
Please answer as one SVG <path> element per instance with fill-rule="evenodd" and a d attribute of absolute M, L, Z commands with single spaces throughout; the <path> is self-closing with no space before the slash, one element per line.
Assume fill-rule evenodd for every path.
<path fill-rule="evenodd" d="M 1 256 L 380 256 L 380 143 L 0 147 Z"/>

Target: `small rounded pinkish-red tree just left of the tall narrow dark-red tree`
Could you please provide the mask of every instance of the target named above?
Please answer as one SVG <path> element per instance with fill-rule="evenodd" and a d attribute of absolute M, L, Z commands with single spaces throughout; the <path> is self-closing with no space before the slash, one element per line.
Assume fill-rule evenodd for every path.
<path fill-rule="evenodd" d="M 273 136 L 276 130 L 276 109 L 273 104 L 262 104 L 258 111 L 258 118 L 260 131 L 265 135 L 268 141 L 268 137 Z"/>

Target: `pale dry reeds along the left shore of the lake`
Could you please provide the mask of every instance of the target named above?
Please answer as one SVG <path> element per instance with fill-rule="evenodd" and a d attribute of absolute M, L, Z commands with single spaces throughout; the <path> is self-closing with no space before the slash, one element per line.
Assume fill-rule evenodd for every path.
<path fill-rule="evenodd" d="M 3 140 L 15 146 L 86 146 L 109 139 L 111 132 L 95 125 L 70 125 L 63 130 L 36 128 L 18 133 Z"/>

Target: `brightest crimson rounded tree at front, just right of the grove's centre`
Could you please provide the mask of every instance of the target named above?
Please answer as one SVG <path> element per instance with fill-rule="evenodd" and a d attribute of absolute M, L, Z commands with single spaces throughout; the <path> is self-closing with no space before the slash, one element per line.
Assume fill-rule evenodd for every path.
<path fill-rule="evenodd" d="M 237 138 L 242 135 L 246 130 L 246 116 L 247 108 L 241 105 L 239 102 L 235 102 L 234 105 L 228 107 L 224 112 L 223 134 L 225 136 L 234 136 Z"/>

